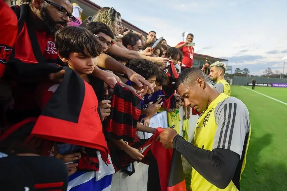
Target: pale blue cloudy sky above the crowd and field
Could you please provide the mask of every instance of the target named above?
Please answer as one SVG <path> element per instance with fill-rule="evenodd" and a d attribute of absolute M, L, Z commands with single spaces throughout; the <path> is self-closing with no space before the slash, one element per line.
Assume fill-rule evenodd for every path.
<path fill-rule="evenodd" d="M 182 32 L 194 34 L 195 53 L 229 59 L 232 72 L 237 67 L 254 75 L 263 74 L 267 67 L 283 71 L 286 0 L 92 1 L 115 8 L 146 32 L 156 31 L 171 46 L 182 41 Z"/>

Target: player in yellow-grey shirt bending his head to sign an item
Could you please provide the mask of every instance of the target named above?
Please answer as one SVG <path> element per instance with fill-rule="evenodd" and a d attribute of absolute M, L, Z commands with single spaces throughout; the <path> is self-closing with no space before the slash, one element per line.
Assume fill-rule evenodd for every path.
<path fill-rule="evenodd" d="M 192 143 L 174 129 L 156 138 L 178 150 L 191 164 L 192 191 L 240 191 L 251 134 L 249 112 L 242 101 L 220 93 L 197 68 L 181 72 L 176 82 L 185 105 L 202 112 Z"/>

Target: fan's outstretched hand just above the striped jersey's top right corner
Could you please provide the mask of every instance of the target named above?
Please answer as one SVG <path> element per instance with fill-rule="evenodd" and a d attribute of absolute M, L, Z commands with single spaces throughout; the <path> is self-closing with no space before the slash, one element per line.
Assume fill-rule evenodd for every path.
<path fill-rule="evenodd" d="M 126 74 L 127 74 L 127 77 L 129 78 L 129 80 L 134 82 L 137 86 L 142 87 L 142 89 L 140 90 L 141 93 L 146 94 L 148 89 L 150 89 L 150 91 L 152 93 L 154 92 L 153 86 L 146 79 L 144 79 L 141 75 L 139 75 L 138 73 L 136 73 L 132 70 L 128 70 Z"/>

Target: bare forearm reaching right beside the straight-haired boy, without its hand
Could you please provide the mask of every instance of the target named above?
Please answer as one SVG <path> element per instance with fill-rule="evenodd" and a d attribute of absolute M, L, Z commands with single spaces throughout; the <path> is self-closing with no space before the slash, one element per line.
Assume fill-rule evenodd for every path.
<path fill-rule="evenodd" d="M 117 73 L 124 73 L 126 74 L 129 68 L 124 66 L 123 64 L 119 63 L 115 59 L 113 59 L 111 56 L 102 53 L 98 57 L 98 64 L 97 66 L 100 66 L 101 68 L 111 70 L 113 72 Z"/>

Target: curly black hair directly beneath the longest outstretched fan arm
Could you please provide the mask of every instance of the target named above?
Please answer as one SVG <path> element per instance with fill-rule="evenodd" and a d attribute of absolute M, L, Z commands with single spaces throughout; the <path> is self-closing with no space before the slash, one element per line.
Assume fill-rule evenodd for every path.
<path fill-rule="evenodd" d="M 132 69 L 143 78 L 148 80 L 153 76 L 157 76 L 159 66 L 146 59 L 134 59 L 130 60 L 128 64 L 129 69 Z"/>

